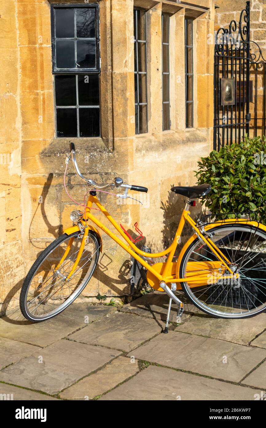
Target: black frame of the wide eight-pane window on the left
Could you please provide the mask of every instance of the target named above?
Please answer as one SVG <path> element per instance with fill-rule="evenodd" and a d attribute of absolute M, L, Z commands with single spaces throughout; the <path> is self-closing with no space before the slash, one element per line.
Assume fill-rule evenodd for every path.
<path fill-rule="evenodd" d="M 96 40 L 96 68 L 64 68 L 58 69 L 56 68 L 56 25 L 55 25 L 55 9 L 95 9 L 96 10 L 96 25 L 95 25 L 95 39 Z M 76 12 L 75 12 L 76 13 Z M 75 29 L 76 31 L 76 29 Z M 55 76 L 54 79 L 54 99 L 55 99 L 55 113 L 56 113 L 56 138 L 69 138 L 71 136 L 58 136 L 58 123 L 57 123 L 57 110 L 58 109 L 76 109 L 76 121 L 77 121 L 77 134 L 71 138 L 98 138 L 101 137 L 101 115 L 100 115 L 100 87 L 99 87 L 99 104 L 91 105 L 82 105 L 79 104 L 79 76 L 92 76 L 97 75 L 100 77 L 100 51 L 99 51 L 99 3 L 62 3 L 62 4 L 53 4 L 51 5 L 51 33 L 52 33 L 52 62 L 53 62 L 53 74 Z M 79 39 L 79 38 L 76 38 Z M 84 39 L 84 38 L 83 38 Z M 85 40 L 88 38 L 85 38 Z M 92 38 L 91 38 L 92 39 Z M 76 48 L 75 48 L 76 54 Z M 76 79 L 76 104 L 74 105 L 57 105 L 56 104 L 56 76 L 75 76 Z M 99 78 L 98 78 L 99 82 Z M 79 121 L 79 109 L 84 108 L 93 108 L 99 109 L 99 135 L 92 136 L 80 136 L 80 121 Z"/>

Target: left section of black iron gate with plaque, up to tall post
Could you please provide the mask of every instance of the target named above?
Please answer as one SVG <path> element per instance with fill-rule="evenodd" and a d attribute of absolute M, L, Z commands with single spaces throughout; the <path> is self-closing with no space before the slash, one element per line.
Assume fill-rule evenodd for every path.
<path fill-rule="evenodd" d="M 216 33 L 214 52 L 213 148 L 240 142 L 249 134 L 250 2 Z M 227 97 L 227 98 L 226 98 Z"/>

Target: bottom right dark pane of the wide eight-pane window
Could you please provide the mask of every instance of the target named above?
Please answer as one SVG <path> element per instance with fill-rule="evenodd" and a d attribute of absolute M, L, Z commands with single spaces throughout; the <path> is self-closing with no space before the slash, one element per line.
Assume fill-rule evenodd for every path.
<path fill-rule="evenodd" d="M 80 137 L 100 136 L 100 110 L 99 108 L 79 109 L 79 135 Z"/>

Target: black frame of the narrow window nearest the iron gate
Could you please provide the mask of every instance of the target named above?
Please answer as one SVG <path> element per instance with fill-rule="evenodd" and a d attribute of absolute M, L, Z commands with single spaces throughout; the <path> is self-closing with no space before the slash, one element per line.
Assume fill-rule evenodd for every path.
<path fill-rule="evenodd" d="M 187 21 L 191 22 L 191 40 L 192 40 L 192 45 L 187 45 Z M 188 73 L 187 71 L 187 49 L 191 48 L 192 50 L 192 73 Z M 193 128 L 194 126 L 194 64 L 193 64 L 193 54 L 194 54 L 194 46 L 193 46 L 193 19 L 190 18 L 185 18 L 185 104 L 186 104 L 186 109 L 185 109 L 185 114 L 186 114 L 186 128 Z M 192 93 L 192 100 L 188 100 L 187 99 L 187 86 L 189 84 L 189 79 L 188 76 L 191 76 L 191 80 L 192 80 L 192 87 L 191 87 L 191 93 Z M 192 123 L 191 125 L 188 123 L 187 121 L 187 116 L 188 116 L 188 104 L 192 105 Z"/>

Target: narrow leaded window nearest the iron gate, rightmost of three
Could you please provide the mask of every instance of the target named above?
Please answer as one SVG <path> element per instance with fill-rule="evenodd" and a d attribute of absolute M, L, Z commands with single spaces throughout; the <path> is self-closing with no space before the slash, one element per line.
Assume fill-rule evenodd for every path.
<path fill-rule="evenodd" d="M 185 19 L 186 128 L 193 128 L 193 21 Z"/>

